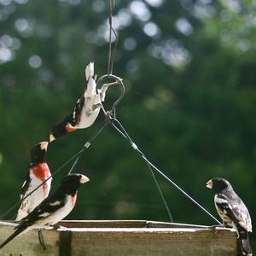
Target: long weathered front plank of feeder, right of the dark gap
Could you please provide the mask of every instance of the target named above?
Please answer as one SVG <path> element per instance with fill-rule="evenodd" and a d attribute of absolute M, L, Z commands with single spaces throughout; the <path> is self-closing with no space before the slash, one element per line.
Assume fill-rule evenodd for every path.
<path fill-rule="evenodd" d="M 74 229 L 72 234 L 72 255 L 236 255 L 236 235 L 227 230 Z"/>

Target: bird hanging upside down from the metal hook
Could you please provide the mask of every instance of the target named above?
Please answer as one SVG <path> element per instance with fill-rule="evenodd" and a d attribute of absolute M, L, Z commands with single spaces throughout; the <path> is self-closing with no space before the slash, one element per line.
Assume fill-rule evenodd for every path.
<path fill-rule="evenodd" d="M 54 125 L 49 132 L 49 142 L 62 137 L 77 129 L 84 129 L 92 125 L 105 100 L 108 84 L 104 84 L 101 90 L 96 91 L 96 76 L 94 75 L 94 62 L 90 62 L 85 68 L 87 88 L 76 102 L 72 113 L 69 113 L 61 122 Z"/>

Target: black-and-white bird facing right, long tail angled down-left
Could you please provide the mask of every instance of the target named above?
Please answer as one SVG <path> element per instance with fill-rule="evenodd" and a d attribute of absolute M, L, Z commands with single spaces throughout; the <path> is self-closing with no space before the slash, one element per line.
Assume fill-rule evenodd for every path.
<path fill-rule="evenodd" d="M 49 195 L 38 207 L 20 220 L 20 224 L 15 227 L 15 232 L 3 241 L 0 249 L 18 235 L 29 230 L 54 225 L 65 218 L 73 210 L 76 203 L 79 185 L 88 181 L 89 178 L 82 174 L 70 174 L 65 177 L 53 194 Z"/>

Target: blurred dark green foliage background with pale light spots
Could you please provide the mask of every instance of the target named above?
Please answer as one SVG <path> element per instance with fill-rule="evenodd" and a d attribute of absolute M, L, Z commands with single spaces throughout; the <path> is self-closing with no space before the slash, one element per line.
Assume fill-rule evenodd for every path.
<path fill-rule="evenodd" d="M 256 221 L 256 2 L 119 0 L 113 26 L 119 33 L 113 73 L 126 90 L 117 115 L 131 137 L 215 215 L 205 183 L 227 178 Z M 49 128 L 84 90 L 89 61 L 98 76 L 107 73 L 107 0 L 0 0 L 0 213 L 19 199 L 32 145 L 48 140 Z M 115 96 L 108 90 L 107 102 Z M 52 172 L 102 119 L 101 113 L 89 129 L 49 145 Z M 148 167 L 111 126 L 75 172 L 90 183 L 68 218 L 168 221 Z M 215 224 L 156 177 L 175 222 Z"/>

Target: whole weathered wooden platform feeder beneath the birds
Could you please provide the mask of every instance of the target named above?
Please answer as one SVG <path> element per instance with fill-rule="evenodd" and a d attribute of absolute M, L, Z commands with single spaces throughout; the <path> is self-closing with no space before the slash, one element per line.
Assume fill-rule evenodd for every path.
<path fill-rule="evenodd" d="M 15 238 L 0 251 L 8 256 L 235 256 L 235 230 L 191 224 L 145 220 L 61 221 L 61 228 L 42 230 L 46 250 L 38 242 L 38 231 Z M 0 241 L 14 229 L 0 222 Z M 66 227 L 66 228 L 64 228 Z"/>

